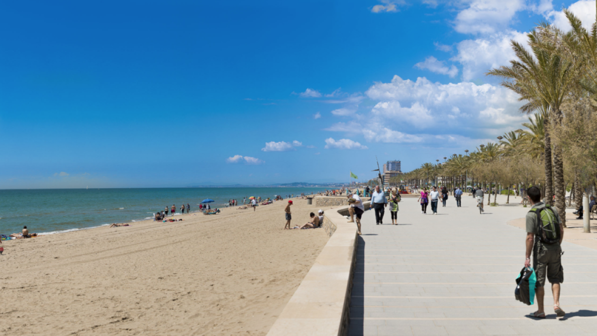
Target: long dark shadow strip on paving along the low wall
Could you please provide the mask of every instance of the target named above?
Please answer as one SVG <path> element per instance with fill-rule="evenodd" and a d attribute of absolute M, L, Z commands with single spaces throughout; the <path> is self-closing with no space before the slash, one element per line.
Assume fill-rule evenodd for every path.
<path fill-rule="evenodd" d="M 364 234 L 362 236 L 377 236 L 377 234 Z M 362 237 L 359 239 L 358 252 L 365 251 L 365 240 Z M 350 291 L 350 306 L 349 306 L 349 323 L 347 334 L 361 336 L 364 334 L 364 319 L 365 308 L 363 298 L 365 292 L 365 255 L 364 253 L 357 253 L 355 273 L 352 278 L 352 291 Z M 355 295 L 357 297 L 355 297 Z M 356 319 L 353 319 L 356 317 Z"/>

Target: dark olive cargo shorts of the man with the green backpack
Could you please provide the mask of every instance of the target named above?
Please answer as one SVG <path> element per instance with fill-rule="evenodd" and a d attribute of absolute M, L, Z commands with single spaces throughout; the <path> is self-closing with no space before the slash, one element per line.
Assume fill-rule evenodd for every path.
<path fill-rule="evenodd" d="M 533 247 L 533 268 L 537 275 L 537 288 L 545 286 L 546 277 L 550 283 L 564 282 L 562 248 L 559 244 L 547 248 L 541 243 L 536 243 Z"/>

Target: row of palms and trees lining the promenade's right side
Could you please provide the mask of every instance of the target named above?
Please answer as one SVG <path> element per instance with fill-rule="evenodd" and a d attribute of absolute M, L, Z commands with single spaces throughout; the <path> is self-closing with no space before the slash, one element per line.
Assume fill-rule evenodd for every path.
<path fill-rule="evenodd" d="M 530 50 L 511 41 L 515 60 L 487 72 L 519 95 L 521 112 L 534 113 L 525 129 L 507 132 L 470 155 L 423 164 L 404 178 L 429 182 L 445 176 L 464 185 L 462 176 L 468 175 L 506 188 L 540 184 L 546 203 L 555 195 L 565 225 L 567 188 L 572 186 L 578 204 L 597 176 L 597 23 L 587 30 L 570 11 L 564 13 L 569 32 L 541 23 L 527 35 Z"/>

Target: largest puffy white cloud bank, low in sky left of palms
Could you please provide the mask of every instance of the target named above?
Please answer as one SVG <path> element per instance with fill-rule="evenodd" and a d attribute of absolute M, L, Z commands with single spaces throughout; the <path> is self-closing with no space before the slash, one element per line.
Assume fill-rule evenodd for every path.
<path fill-rule="evenodd" d="M 524 120 L 518 111 L 522 106 L 518 96 L 504 87 L 491 84 L 441 84 L 432 83 L 424 77 L 411 81 L 394 76 L 391 83 L 375 83 L 365 94 L 379 101 L 371 109 L 369 117 L 383 121 L 386 123 L 384 127 L 393 123 L 401 127 L 408 124 L 409 129 L 441 126 L 466 132 L 464 129 L 503 128 L 506 123 L 516 129 L 519 121 Z M 500 115 L 488 108 L 501 109 Z M 486 114 L 479 112 L 486 110 Z M 350 124 L 343 126 L 345 130 L 358 129 L 348 127 Z"/>

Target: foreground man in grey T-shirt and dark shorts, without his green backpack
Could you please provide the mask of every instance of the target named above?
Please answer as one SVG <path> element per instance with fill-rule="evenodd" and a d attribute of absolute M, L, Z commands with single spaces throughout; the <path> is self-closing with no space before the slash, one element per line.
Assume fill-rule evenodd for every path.
<path fill-rule="evenodd" d="M 541 190 L 537 187 L 531 187 L 527 190 L 527 197 L 531 204 L 531 209 L 541 209 L 545 204 L 541 202 Z M 560 244 L 564 239 L 564 227 L 558 215 L 558 210 L 555 207 L 550 207 L 555 215 L 555 220 L 560 223 L 560 240 L 553 244 L 541 243 L 538 234 L 538 225 L 543 225 L 537 218 L 537 213 L 527 213 L 527 259 L 524 262 L 525 267 L 531 265 L 531 249 L 533 251 L 533 268 L 537 274 L 536 296 L 538 310 L 532 313 L 531 317 L 538 319 L 545 318 L 545 311 L 543 309 L 543 295 L 545 290 L 545 278 L 552 284 L 553 294 L 553 310 L 559 317 L 565 316 L 564 310 L 559 307 L 560 283 L 564 282 L 564 268 L 562 268 L 562 248 Z"/>

